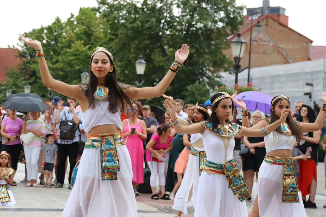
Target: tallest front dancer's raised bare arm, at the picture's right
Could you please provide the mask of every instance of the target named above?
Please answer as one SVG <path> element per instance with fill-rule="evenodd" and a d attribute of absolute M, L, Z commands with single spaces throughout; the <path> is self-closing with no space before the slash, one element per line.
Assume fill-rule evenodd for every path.
<path fill-rule="evenodd" d="M 174 68 L 180 67 L 181 64 L 187 59 L 189 54 L 189 47 L 187 44 L 183 44 L 181 49 L 175 52 L 175 59 L 170 67 L 168 73 L 163 77 L 163 79 L 155 87 L 146 87 L 146 88 L 126 88 L 125 93 L 130 99 L 147 99 L 162 96 L 162 94 L 169 87 L 171 81 L 173 80 L 175 74 Z"/>

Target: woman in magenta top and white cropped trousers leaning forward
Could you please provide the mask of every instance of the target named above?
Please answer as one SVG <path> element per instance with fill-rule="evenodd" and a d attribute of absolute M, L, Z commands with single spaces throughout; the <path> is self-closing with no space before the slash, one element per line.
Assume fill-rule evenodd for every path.
<path fill-rule="evenodd" d="M 151 140 L 146 145 L 146 162 L 151 170 L 150 184 L 152 188 L 152 199 L 158 200 L 156 193 L 156 176 L 161 188 L 161 199 L 169 200 L 169 195 L 165 194 L 165 164 L 168 163 L 164 158 L 164 153 L 172 148 L 172 127 L 170 124 L 163 124 L 157 128 Z"/>

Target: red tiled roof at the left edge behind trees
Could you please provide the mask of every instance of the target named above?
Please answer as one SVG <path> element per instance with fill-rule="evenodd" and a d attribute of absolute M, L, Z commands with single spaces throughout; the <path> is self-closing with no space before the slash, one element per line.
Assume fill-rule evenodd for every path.
<path fill-rule="evenodd" d="M 0 82 L 7 80 L 6 73 L 10 68 L 14 68 L 21 61 L 18 55 L 18 49 L 0 48 Z"/>

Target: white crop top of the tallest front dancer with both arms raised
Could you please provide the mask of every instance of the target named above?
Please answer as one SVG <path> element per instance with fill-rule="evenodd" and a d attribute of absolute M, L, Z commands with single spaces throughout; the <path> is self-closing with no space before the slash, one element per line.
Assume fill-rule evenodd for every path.
<path fill-rule="evenodd" d="M 92 128 L 99 125 L 113 124 L 122 130 L 122 122 L 120 119 L 120 110 L 111 113 L 108 110 L 109 101 L 95 100 L 95 108 L 89 108 L 84 112 L 83 126 L 85 132 L 89 132 Z"/>

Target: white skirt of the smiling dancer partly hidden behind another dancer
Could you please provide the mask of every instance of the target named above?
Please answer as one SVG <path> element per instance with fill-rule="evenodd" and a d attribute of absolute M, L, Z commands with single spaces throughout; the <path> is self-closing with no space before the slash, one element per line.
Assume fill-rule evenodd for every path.
<path fill-rule="evenodd" d="M 205 151 L 205 148 L 194 147 L 197 151 Z M 187 206 L 196 206 L 197 189 L 199 183 L 199 156 L 190 154 L 185 175 L 175 195 L 173 209 L 188 214 Z M 191 192 L 190 192 L 191 191 Z M 189 198 L 190 196 L 190 198 Z"/>

